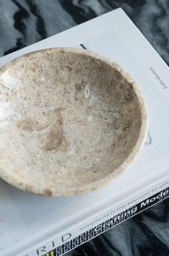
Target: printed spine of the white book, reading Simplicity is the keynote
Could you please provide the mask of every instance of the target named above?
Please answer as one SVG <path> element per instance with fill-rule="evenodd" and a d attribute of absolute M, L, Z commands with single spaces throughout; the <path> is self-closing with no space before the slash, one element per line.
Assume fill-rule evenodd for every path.
<path fill-rule="evenodd" d="M 79 225 L 74 229 L 69 229 L 62 236 L 52 239 L 50 242 L 42 244 L 41 247 L 32 250 L 27 256 L 61 256 L 66 252 L 88 242 L 99 234 L 112 229 L 119 223 L 141 213 L 157 202 L 169 197 L 169 180 L 160 182 L 153 187 L 135 195 L 128 200 L 121 202 L 91 221 Z M 26 256 L 26 255 L 23 255 Z"/>

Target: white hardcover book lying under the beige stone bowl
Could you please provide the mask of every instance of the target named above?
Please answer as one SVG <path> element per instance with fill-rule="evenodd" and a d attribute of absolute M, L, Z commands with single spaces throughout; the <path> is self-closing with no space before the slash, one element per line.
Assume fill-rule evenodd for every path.
<path fill-rule="evenodd" d="M 76 197 L 41 197 L 0 181 L 0 255 L 59 256 L 169 196 L 169 69 L 129 17 L 117 9 L 0 59 L 76 46 L 127 69 L 149 111 L 145 146 L 115 182 Z"/>

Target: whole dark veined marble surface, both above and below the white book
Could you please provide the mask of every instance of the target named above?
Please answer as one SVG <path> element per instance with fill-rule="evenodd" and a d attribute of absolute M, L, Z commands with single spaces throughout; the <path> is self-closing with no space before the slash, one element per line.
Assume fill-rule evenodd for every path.
<path fill-rule="evenodd" d="M 169 64 L 168 0 L 0 0 L 0 56 L 122 7 Z M 66 256 L 169 255 L 169 200 Z"/>

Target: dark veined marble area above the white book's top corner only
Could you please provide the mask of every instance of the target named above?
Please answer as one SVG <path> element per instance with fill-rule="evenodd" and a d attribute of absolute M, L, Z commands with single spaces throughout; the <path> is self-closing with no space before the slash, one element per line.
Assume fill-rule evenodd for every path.
<path fill-rule="evenodd" d="M 168 0 L 0 0 L 0 56 L 118 7 L 169 64 Z"/>

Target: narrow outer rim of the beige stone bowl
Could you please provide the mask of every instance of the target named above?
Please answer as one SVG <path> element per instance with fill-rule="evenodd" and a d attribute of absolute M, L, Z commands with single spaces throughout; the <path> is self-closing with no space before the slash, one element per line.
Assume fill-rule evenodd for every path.
<path fill-rule="evenodd" d="M 27 56 L 33 56 L 38 53 L 46 53 L 49 51 L 50 53 L 75 53 L 75 54 L 81 54 L 88 57 L 91 57 L 93 59 L 99 59 L 103 61 L 106 64 L 109 64 L 111 67 L 116 69 L 118 72 L 124 76 L 127 81 L 132 84 L 134 93 L 137 96 L 138 103 L 140 105 L 140 112 L 141 112 L 141 127 L 140 127 L 140 134 L 137 138 L 137 142 L 134 145 L 134 148 L 132 149 L 131 153 L 128 155 L 128 157 L 124 160 L 124 162 L 117 167 L 111 174 L 105 176 L 104 178 L 101 178 L 97 180 L 96 182 L 91 182 L 86 185 L 80 185 L 78 188 L 62 188 L 62 187 L 56 187 L 53 188 L 44 188 L 36 187 L 35 184 L 27 184 L 27 182 L 24 182 L 23 180 L 17 179 L 17 177 L 12 176 L 12 174 L 6 174 L 5 171 L 3 171 L 0 168 L 0 178 L 4 179 L 5 182 L 12 184 L 12 186 L 17 187 L 19 189 L 22 189 L 27 192 L 32 192 L 37 195 L 43 195 L 43 196 L 52 196 L 52 197 L 68 197 L 73 195 L 82 195 L 86 194 L 88 192 L 92 192 L 96 189 L 99 189 L 103 187 L 106 184 L 109 184 L 109 182 L 114 181 L 117 179 L 117 177 L 122 174 L 124 171 L 127 171 L 127 169 L 134 163 L 137 156 L 139 155 L 140 151 L 142 150 L 142 147 L 145 142 L 145 137 L 147 135 L 147 129 L 148 129 L 148 111 L 147 111 L 147 104 L 145 102 L 144 95 L 142 93 L 142 90 L 140 90 L 139 86 L 137 85 L 137 82 L 134 81 L 131 74 L 129 74 L 124 68 L 122 68 L 117 62 L 112 61 L 111 59 L 106 58 L 105 56 L 102 56 L 101 54 L 97 54 L 93 51 L 81 49 L 81 48 L 74 48 L 74 47 L 56 47 L 56 48 L 45 48 L 40 49 L 38 51 L 32 51 L 28 54 L 24 54 L 22 56 L 19 56 L 16 59 L 13 59 L 12 61 L 5 64 L 3 67 L 0 68 L 0 75 L 6 71 L 10 66 L 15 64 L 15 61 L 18 61 L 19 59 L 24 59 Z"/>

